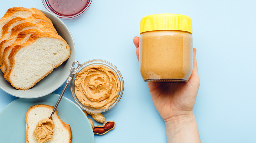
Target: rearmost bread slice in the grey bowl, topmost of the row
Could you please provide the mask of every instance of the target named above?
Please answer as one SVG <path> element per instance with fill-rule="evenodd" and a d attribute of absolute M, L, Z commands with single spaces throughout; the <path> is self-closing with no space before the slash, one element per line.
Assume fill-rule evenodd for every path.
<path fill-rule="evenodd" d="M 44 13 L 36 8 L 23 8 L 23 7 L 13 7 L 9 8 L 4 16 L 0 19 L 0 27 L 2 28 L 8 21 L 15 17 L 26 18 L 32 16 L 32 14 L 38 14 L 45 16 Z M 2 29 L 0 28 L 0 37 L 2 36 Z"/>

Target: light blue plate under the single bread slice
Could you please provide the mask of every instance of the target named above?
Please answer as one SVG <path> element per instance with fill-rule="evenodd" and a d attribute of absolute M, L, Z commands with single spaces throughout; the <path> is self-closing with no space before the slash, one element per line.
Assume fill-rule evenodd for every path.
<path fill-rule="evenodd" d="M 25 115 L 28 109 L 36 104 L 55 106 L 58 98 L 58 94 L 52 93 L 34 99 L 18 98 L 8 104 L 0 113 L 0 142 L 25 143 Z M 57 112 L 60 119 L 70 125 L 73 136 L 72 142 L 94 143 L 91 124 L 84 112 L 74 102 L 63 97 L 58 105 Z"/>

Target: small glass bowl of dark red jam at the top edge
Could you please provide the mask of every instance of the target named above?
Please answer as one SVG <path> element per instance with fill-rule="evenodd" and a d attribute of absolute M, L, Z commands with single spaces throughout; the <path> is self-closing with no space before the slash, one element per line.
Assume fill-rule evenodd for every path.
<path fill-rule="evenodd" d="M 63 19 L 72 19 L 82 15 L 91 5 L 92 0 L 42 0 L 45 8 Z"/>

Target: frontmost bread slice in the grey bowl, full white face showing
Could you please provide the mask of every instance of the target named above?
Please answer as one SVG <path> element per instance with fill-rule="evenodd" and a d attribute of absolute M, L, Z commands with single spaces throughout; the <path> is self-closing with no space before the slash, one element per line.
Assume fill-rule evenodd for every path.
<path fill-rule="evenodd" d="M 26 43 L 16 45 L 9 55 L 6 79 L 13 87 L 27 90 L 70 56 L 66 41 L 57 34 L 33 33 Z"/>

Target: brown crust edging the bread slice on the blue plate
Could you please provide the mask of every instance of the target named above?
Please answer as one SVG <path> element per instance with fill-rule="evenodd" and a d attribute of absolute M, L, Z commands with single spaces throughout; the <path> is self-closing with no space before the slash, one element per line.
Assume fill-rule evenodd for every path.
<path fill-rule="evenodd" d="M 31 106 L 29 109 L 28 109 L 28 111 L 27 111 L 27 113 L 26 113 L 26 117 L 25 117 L 25 120 L 26 120 L 26 142 L 27 143 L 29 143 L 29 141 L 28 141 L 28 130 L 29 130 L 29 125 L 28 125 L 28 114 L 29 114 L 29 112 L 32 110 L 32 109 L 34 109 L 34 108 L 37 108 L 37 107 L 45 107 L 45 108 L 49 108 L 49 109 L 51 109 L 51 110 L 53 110 L 53 106 L 49 106 L 49 105 L 45 105 L 45 104 L 38 104 L 38 105 L 34 105 L 34 106 Z M 56 114 L 56 116 L 57 116 L 57 118 L 61 121 L 61 123 L 62 123 L 62 126 L 65 128 L 65 129 L 67 129 L 68 131 L 69 131 L 69 143 L 71 143 L 71 141 L 72 141 L 72 131 L 71 131 L 71 128 L 70 128 L 70 125 L 69 124 L 66 124 L 65 122 L 63 122 L 60 118 L 59 118 L 59 116 L 58 116 L 58 113 L 57 113 L 57 111 L 55 111 L 55 113 L 54 114 Z M 50 115 L 49 115 L 50 116 Z M 54 133 L 53 133 L 54 134 Z"/>

